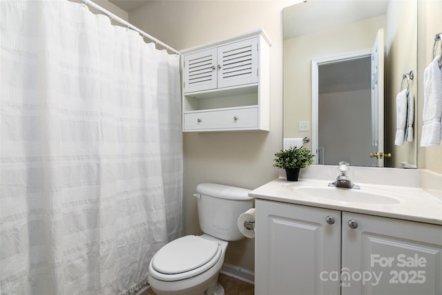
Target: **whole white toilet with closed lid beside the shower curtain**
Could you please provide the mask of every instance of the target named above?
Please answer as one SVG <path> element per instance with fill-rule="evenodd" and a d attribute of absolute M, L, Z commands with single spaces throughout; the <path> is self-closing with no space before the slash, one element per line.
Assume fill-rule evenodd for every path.
<path fill-rule="evenodd" d="M 241 240 L 238 217 L 253 206 L 249 189 L 202 183 L 196 187 L 202 236 L 169 242 L 153 256 L 148 282 L 158 295 L 222 295 L 218 275 L 228 241 Z"/>

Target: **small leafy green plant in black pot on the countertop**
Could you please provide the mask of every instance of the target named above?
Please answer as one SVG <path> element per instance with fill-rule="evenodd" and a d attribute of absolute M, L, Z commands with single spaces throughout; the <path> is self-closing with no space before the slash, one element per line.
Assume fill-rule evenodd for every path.
<path fill-rule="evenodd" d="M 285 169 L 289 181 L 298 181 L 300 169 L 313 163 L 314 157 L 311 151 L 304 146 L 291 146 L 289 149 L 278 151 L 275 156 L 273 166 Z"/>

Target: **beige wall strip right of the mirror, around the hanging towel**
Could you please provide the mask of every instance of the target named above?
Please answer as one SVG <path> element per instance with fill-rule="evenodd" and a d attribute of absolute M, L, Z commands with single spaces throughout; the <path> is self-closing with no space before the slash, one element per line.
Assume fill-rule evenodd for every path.
<path fill-rule="evenodd" d="M 422 109 L 423 109 L 423 70 L 432 60 L 434 35 L 442 32 L 442 1 L 419 0 L 418 1 L 418 140 L 421 141 Z M 440 44 L 438 43 L 438 47 Z M 437 53 L 440 53 L 440 47 Z M 442 53 L 441 53 L 442 54 Z M 442 145 L 418 147 L 418 167 L 442 173 Z"/>

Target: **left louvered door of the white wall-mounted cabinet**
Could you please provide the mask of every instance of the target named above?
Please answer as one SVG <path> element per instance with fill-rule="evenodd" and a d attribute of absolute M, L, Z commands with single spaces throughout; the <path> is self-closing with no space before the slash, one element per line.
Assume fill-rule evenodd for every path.
<path fill-rule="evenodd" d="M 206 91 L 217 87 L 217 49 L 184 56 L 184 93 Z"/>

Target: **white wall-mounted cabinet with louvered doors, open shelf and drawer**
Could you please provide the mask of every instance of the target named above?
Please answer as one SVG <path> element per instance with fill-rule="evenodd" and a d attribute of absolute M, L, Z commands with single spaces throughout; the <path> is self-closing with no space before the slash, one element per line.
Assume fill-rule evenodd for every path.
<path fill-rule="evenodd" d="M 264 30 L 182 51 L 183 131 L 269 131 Z"/>

